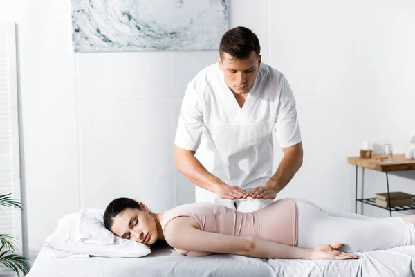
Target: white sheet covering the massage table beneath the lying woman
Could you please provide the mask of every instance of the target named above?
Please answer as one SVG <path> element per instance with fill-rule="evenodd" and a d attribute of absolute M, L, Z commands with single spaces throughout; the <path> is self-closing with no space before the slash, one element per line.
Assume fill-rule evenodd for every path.
<path fill-rule="evenodd" d="M 359 260 L 262 260 L 237 255 L 181 256 L 170 248 L 142 258 L 54 260 L 42 249 L 28 277 L 415 276 L 415 247 L 362 253 Z"/>

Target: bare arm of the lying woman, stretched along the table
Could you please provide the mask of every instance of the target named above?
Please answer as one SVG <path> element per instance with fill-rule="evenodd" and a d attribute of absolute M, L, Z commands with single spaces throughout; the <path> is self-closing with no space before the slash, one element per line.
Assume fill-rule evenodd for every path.
<path fill-rule="evenodd" d="M 165 239 L 175 248 L 189 251 L 229 253 L 256 258 L 335 259 L 358 258 L 335 250 L 342 244 L 325 244 L 316 249 L 291 247 L 259 238 L 237 237 L 202 231 L 192 217 L 176 217 L 165 226 Z"/>

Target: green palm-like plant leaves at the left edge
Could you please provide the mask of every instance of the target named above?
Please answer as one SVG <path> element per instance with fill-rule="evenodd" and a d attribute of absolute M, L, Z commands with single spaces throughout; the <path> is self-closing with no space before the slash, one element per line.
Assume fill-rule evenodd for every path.
<path fill-rule="evenodd" d="M 11 196 L 11 193 L 0 195 L 0 207 L 19 208 L 21 210 L 21 203 Z M 17 276 L 20 273 L 28 274 L 30 265 L 28 259 L 16 254 L 17 247 L 15 244 L 16 238 L 12 235 L 0 233 L 0 265 L 15 271 Z"/>

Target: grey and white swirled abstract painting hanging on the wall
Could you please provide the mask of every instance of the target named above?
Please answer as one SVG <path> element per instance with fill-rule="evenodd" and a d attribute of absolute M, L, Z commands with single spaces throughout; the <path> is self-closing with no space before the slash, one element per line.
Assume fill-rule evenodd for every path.
<path fill-rule="evenodd" d="M 228 7 L 228 0 L 72 0 L 73 49 L 218 49 Z"/>

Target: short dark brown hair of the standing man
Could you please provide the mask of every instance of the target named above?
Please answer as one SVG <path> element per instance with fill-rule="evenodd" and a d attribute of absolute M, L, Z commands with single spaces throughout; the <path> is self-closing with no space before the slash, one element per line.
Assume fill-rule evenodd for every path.
<path fill-rule="evenodd" d="M 255 51 L 259 57 L 261 46 L 257 35 L 252 30 L 239 26 L 223 34 L 219 46 L 221 57 L 223 57 L 223 53 L 228 53 L 235 60 L 241 60 L 248 57 L 252 51 Z"/>

